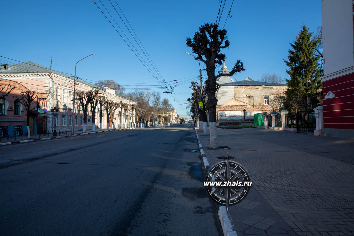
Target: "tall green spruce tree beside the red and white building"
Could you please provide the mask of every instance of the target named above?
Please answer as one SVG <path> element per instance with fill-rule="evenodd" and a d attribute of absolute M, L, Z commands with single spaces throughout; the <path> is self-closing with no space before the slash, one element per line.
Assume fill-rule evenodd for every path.
<path fill-rule="evenodd" d="M 286 109 L 297 112 L 311 110 L 319 103 L 316 94 L 320 94 L 322 83 L 319 77 L 323 70 L 319 67 L 320 55 L 315 51 L 319 39 L 312 38 L 313 32 L 309 32 L 305 23 L 293 44 L 290 44 L 286 72 L 290 79 L 286 80 L 288 88 L 286 94 Z"/>

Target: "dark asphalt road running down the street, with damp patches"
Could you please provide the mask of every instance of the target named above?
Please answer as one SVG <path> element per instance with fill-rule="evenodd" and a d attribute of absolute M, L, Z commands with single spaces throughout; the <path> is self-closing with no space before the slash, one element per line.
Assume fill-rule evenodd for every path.
<path fill-rule="evenodd" d="M 222 235 L 190 124 L 0 146 L 1 235 Z"/>

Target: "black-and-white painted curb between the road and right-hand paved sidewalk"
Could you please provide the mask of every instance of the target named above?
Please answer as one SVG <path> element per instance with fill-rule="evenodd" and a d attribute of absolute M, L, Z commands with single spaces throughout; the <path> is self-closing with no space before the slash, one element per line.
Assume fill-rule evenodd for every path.
<path fill-rule="evenodd" d="M 195 135 L 197 137 L 200 155 L 203 158 L 202 160 L 203 160 L 204 167 L 205 167 L 206 171 L 208 172 L 210 170 L 210 165 L 209 165 L 208 159 L 206 158 L 205 152 L 204 152 L 201 142 L 199 140 L 198 132 L 196 131 L 195 127 L 193 127 L 193 128 L 195 131 Z M 218 215 L 219 215 L 219 220 L 221 223 L 221 228 L 224 233 L 224 236 L 237 236 L 236 230 L 234 228 L 234 223 L 233 223 L 229 213 L 227 213 L 226 207 L 224 207 L 224 206 L 219 207 Z"/>

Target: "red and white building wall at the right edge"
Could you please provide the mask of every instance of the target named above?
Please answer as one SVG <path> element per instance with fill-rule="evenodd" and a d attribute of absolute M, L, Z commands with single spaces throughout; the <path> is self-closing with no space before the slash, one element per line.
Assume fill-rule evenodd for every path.
<path fill-rule="evenodd" d="M 354 1 L 322 0 L 324 134 L 354 138 Z"/>

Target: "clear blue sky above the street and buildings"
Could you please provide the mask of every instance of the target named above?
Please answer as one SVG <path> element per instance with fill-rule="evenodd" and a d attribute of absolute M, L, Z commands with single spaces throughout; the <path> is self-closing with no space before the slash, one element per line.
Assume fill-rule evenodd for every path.
<path fill-rule="evenodd" d="M 101 1 L 147 61 L 109 0 Z M 95 2 L 109 17 L 101 2 Z M 124 19 L 118 3 L 161 77 L 165 81 L 178 80 L 181 84 L 175 87 L 174 94 L 163 93 L 162 88 L 156 91 L 161 92 L 162 98 L 169 98 L 177 113 L 185 116 L 186 104 L 179 104 L 186 103 L 190 97 L 190 81 L 198 80 L 194 78 L 199 75 L 198 62 L 184 52 L 191 52 L 185 46 L 185 39 L 193 37 L 202 23 L 216 21 L 219 1 L 111 2 Z M 232 0 L 225 2 L 221 27 L 231 4 Z M 75 63 L 95 53 L 76 67 L 76 74 L 88 82 L 114 80 L 128 92 L 137 86 L 161 87 L 155 79 L 157 76 L 161 82 L 160 76 L 153 69 L 155 76 L 148 72 L 93 1 L 5 1 L 1 5 L 5 23 L 0 39 L 1 56 L 46 67 L 50 67 L 50 59 L 54 57 L 52 69 L 74 74 Z M 230 14 L 232 17 L 225 24 L 230 41 L 229 48 L 223 50 L 226 65 L 231 68 L 240 59 L 246 69 L 233 77 L 258 80 L 261 74 L 276 73 L 288 79 L 282 59 L 287 58 L 289 43 L 295 40 L 303 22 L 311 31 L 321 25 L 321 1 L 234 0 Z M 115 25 L 114 21 L 112 23 Z M 5 60 L 0 58 L 1 63 L 16 63 Z M 204 73 L 203 77 L 206 77 Z"/>

